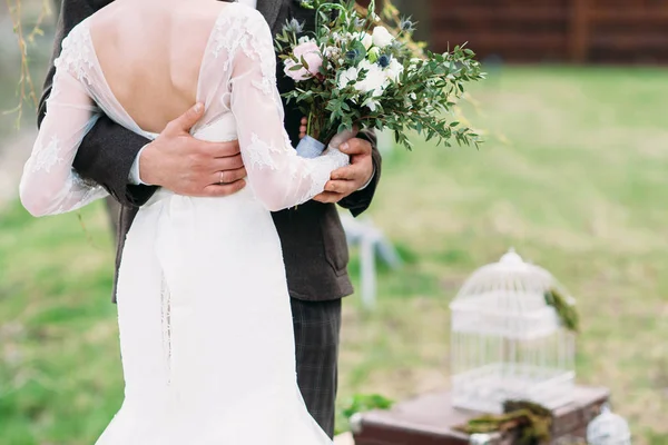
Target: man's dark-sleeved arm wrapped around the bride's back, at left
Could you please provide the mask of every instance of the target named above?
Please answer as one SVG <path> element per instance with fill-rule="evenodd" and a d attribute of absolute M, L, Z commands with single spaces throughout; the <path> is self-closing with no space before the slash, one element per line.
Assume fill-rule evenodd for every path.
<path fill-rule="evenodd" d="M 109 1 L 65 0 L 58 18 L 53 56 L 45 80 L 43 93 L 38 110 L 38 127 L 47 111 L 47 99 L 51 95 L 56 68 L 53 61 L 60 56 L 62 40 L 73 27 L 91 16 Z M 85 178 L 104 186 L 120 204 L 140 206 L 155 192 L 156 187 L 132 186 L 128 177 L 139 150 L 148 144 L 144 137 L 126 129 L 102 116 L 84 138 L 75 158 L 73 167 Z"/>

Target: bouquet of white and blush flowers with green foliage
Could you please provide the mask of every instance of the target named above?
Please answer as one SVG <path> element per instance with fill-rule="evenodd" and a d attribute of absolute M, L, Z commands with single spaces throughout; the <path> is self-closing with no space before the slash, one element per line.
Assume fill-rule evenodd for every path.
<path fill-rule="evenodd" d="M 468 82 L 484 78 L 474 53 L 463 46 L 442 55 L 416 50 L 414 23 L 397 20 L 385 27 L 374 12 L 354 1 L 333 3 L 304 0 L 316 10 L 316 29 L 304 34 L 289 21 L 276 39 L 285 73 L 294 90 L 284 95 L 308 117 L 307 136 L 327 142 L 337 132 L 389 129 L 411 148 L 410 130 L 439 144 L 478 146 L 479 136 L 449 111 Z"/>

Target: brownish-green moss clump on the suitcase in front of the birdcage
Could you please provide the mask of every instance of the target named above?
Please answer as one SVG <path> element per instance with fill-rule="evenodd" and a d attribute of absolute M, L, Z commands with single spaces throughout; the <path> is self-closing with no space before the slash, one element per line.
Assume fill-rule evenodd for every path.
<path fill-rule="evenodd" d="M 510 433 L 517 434 L 513 443 L 519 445 L 546 445 L 551 441 L 552 413 L 533 402 L 507 400 L 503 414 L 485 414 L 470 419 L 454 429 L 465 434 Z"/>

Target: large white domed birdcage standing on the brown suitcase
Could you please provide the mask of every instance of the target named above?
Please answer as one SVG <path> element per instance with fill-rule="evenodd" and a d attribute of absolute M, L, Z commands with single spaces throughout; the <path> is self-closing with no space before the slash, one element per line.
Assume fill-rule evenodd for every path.
<path fill-rule="evenodd" d="M 574 334 L 548 304 L 546 294 L 554 290 L 567 295 L 513 250 L 464 283 L 450 305 L 455 407 L 502 413 L 510 399 L 547 408 L 572 400 Z"/>

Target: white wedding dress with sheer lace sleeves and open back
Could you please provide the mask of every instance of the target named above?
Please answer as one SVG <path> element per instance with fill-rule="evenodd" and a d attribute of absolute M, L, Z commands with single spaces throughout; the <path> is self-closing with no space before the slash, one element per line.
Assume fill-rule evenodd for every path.
<path fill-rule="evenodd" d="M 106 192 L 71 169 L 104 112 L 146 137 L 106 83 L 90 19 L 63 41 L 53 90 L 21 182 L 36 215 Z M 281 244 L 269 210 L 321 192 L 347 157 L 296 156 L 283 128 L 272 34 L 250 8 L 226 6 L 198 83 L 193 134 L 239 140 L 249 187 L 227 198 L 158 191 L 128 234 L 118 283 L 125 402 L 98 445 L 320 445 L 296 383 Z"/>

